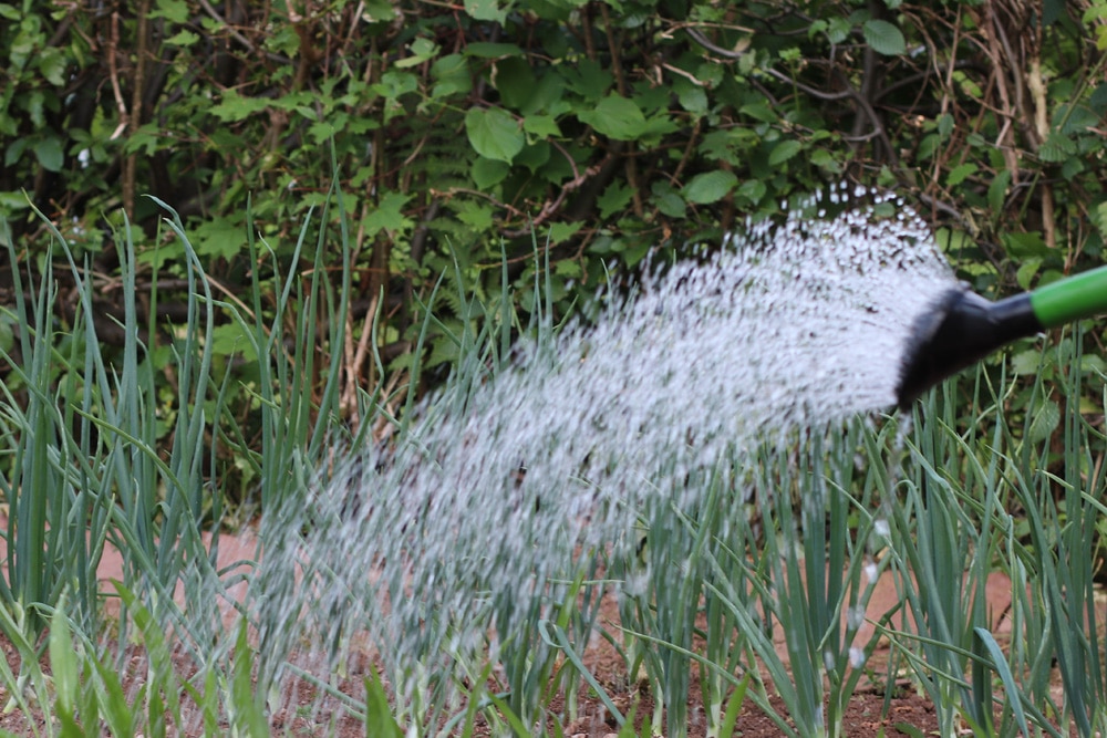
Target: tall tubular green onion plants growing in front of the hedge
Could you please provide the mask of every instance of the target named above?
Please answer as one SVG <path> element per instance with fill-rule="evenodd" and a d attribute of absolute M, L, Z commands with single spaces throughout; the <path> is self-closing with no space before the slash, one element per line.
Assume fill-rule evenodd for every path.
<path fill-rule="evenodd" d="M 951 381 L 920 402 L 910 428 L 906 418 L 807 428 L 680 474 L 659 458 L 641 470 L 648 493 L 634 498 L 642 500 L 637 527 L 520 572 L 540 593 L 525 610 L 474 582 L 473 623 L 421 624 L 451 637 L 413 638 L 423 648 L 414 658 L 381 654 L 360 690 L 340 690 L 345 654 L 369 615 L 353 604 L 311 613 L 311 591 L 267 579 L 257 561 L 245 562 L 238 579 L 217 569 L 220 530 L 231 519 L 217 459 L 234 458 L 256 480 L 259 555 L 294 551 L 294 536 L 269 533 L 288 528 L 268 521 L 309 508 L 342 455 L 370 443 L 371 428 L 417 443 L 418 423 L 463 412 L 477 387 L 510 366 L 516 336 L 532 336 L 539 356 L 555 354 L 558 326 L 549 266 L 537 258 L 526 324 L 513 308 L 506 259 L 499 291 L 485 300 L 449 289 L 462 283 L 459 272 L 444 274 L 422 303 L 414 340 L 416 357 L 432 332 L 452 342 L 443 401 L 430 420 L 414 419 L 413 360 L 405 383 L 356 398 L 360 423 L 349 425 L 341 354 L 351 337 L 353 250 L 340 194 L 331 201 L 338 205 L 299 228 L 290 263 L 307 258 L 303 271 L 287 269 L 249 229 L 255 269 L 241 300 L 214 289 L 185 225 L 157 202 L 166 215 L 158 238 L 175 239 L 186 254 L 187 303 L 176 325 L 158 324 L 156 272 L 139 309 L 139 237 L 124 224 L 115 353 L 101 350 L 89 264 L 56 230 L 38 271 L 13 270 L 15 301 L 2 320 L 18 337 L 0 341 L 9 366 L 0 382 L 0 493 L 9 512 L 0 632 L 20 664 L 0 664 L 0 683 L 13 709 L 45 718 L 30 732 L 225 735 L 229 726 L 269 735 L 283 687 L 300 680 L 363 721 L 366 735 L 470 736 L 480 726 L 562 735 L 587 698 L 603 706 L 619 735 L 679 738 L 699 721 L 712 738 L 730 736 L 745 710 L 757 710 L 782 735 L 837 737 L 848 730 L 846 709 L 862 679 L 883 685 L 888 716 L 904 674 L 933 703 L 942 735 L 1107 730 L 1096 584 L 1107 437 L 1101 415 L 1087 407 L 1089 395 L 1098 393 L 1099 407 L 1107 395 L 1079 332 L 1042 352 L 1055 371 L 996 384 L 977 372 L 969 402 L 956 392 L 965 380 Z M 337 230 L 321 225 L 332 219 Z M 335 233 L 342 260 L 328 264 L 325 239 Z M 19 254 L 7 250 L 15 263 Z M 62 270 L 76 295 L 69 312 L 56 310 Z M 437 314 L 447 293 L 451 319 Z M 215 350 L 217 325 L 228 323 L 240 334 L 249 381 L 225 371 Z M 381 326 L 374 320 L 365 330 Z M 372 361 L 383 376 L 380 355 Z M 172 385 L 158 368 L 166 362 Z M 242 397 L 249 427 L 235 405 Z M 557 493 L 558 484 L 588 482 L 550 480 L 541 493 Z M 303 524 L 337 524 L 320 516 Z M 97 579 L 108 545 L 123 558 L 111 586 Z M 341 562 L 303 563 L 304 578 L 325 582 L 313 565 Z M 994 578 L 1010 582 L 1004 613 L 987 605 Z M 879 579 L 897 586 L 900 603 L 888 613 L 867 612 Z M 240 580 L 249 584 L 245 601 L 229 592 Z M 403 582 L 394 585 L 392 595 L 403 596 Z M 618 622 L 599 616 L 611 593 Z M 104 614 L 110 600 L 117 615 Z M 273 601 L 302 607 L 269 609 Z M 229 636 L 227 609 L 238 617 Z M 309 615 L 341 623 L 323 672 L 296 661 L 297 620 Z M 875 635 L 862 640 L 866 619 Z M 464 637 L 474 623 L 477 637 Z M 617 704 L 618 685 L 589 672 L 596 638 L 621 654 L 627 690 L 650 692 L 652 713 Z M 875 659 L 882 644 L 890 644 L 887 668 Z M 122 675 L 134 663 L 145 686 L 127 692 Z M 690 709 L 696 684 L 703 706 Z M 333 716 L 312 717 L 320 730 L 333 726 Z"/>

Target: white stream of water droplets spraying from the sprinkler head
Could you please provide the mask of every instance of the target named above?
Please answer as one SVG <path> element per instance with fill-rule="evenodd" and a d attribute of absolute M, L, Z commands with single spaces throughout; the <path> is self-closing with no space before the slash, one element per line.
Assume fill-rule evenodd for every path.
<path fill-rule="evenodd" d="M 300 622 L 332 652 L 362 627 L 401 661 L 478 651 L 651 496 L 692 503 L 680 480 L 734 449 L 892 407 L 912 323 L 955 281 L 915 214 L 862 195 L 832 189 L 659 270 L 494 381 L 431 398 L 399 448 L 352 454 L 262 531 L 263 637 Z"/>

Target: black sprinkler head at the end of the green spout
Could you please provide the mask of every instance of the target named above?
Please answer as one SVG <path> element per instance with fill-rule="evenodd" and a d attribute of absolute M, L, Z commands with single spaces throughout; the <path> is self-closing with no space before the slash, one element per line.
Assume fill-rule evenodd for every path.
<path fill-rule="evenodd" d="M 896 389 L 900 409 L 1000 346 L 1043 329 L 1030 293 L 990 302 L 966 285 L 949 290 L 914 321 Z"/>

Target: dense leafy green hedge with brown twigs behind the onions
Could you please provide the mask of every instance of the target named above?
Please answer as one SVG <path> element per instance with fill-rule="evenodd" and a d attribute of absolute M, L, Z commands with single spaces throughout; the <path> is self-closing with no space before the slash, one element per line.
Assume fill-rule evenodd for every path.
<path fill-rule="evenodd" d="M 548 245 L 563 312 L 606 266 L 842 178 L 919 204 L 980 289 L 1098 261 L 1107 226 L 1104 0 L 24 0 L 0 18 L 0 212 L 23 257 L 46 241 L 25 190 L 101 270 L 123 210 L 144 263 L 179 272 L 152 194 L 234 292 L 263 267 L 248 212 L 288 268 L 337 171 L 355 318 L 385 294 L 372 339 L 401 362 L 455 262 L 492 298 L 504 258 L 525 287 Z"/>

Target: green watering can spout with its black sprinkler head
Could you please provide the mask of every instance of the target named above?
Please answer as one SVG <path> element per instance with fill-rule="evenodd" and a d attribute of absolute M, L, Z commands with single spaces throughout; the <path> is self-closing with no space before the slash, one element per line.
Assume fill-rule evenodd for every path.
<path fill-rule="evenodd" d="M 901 409 L 931 386 L 1016 339 L 1107 312 L 1107 267 L 991 302 L 964 284 L 915 319 L 896 391 Z"/>

